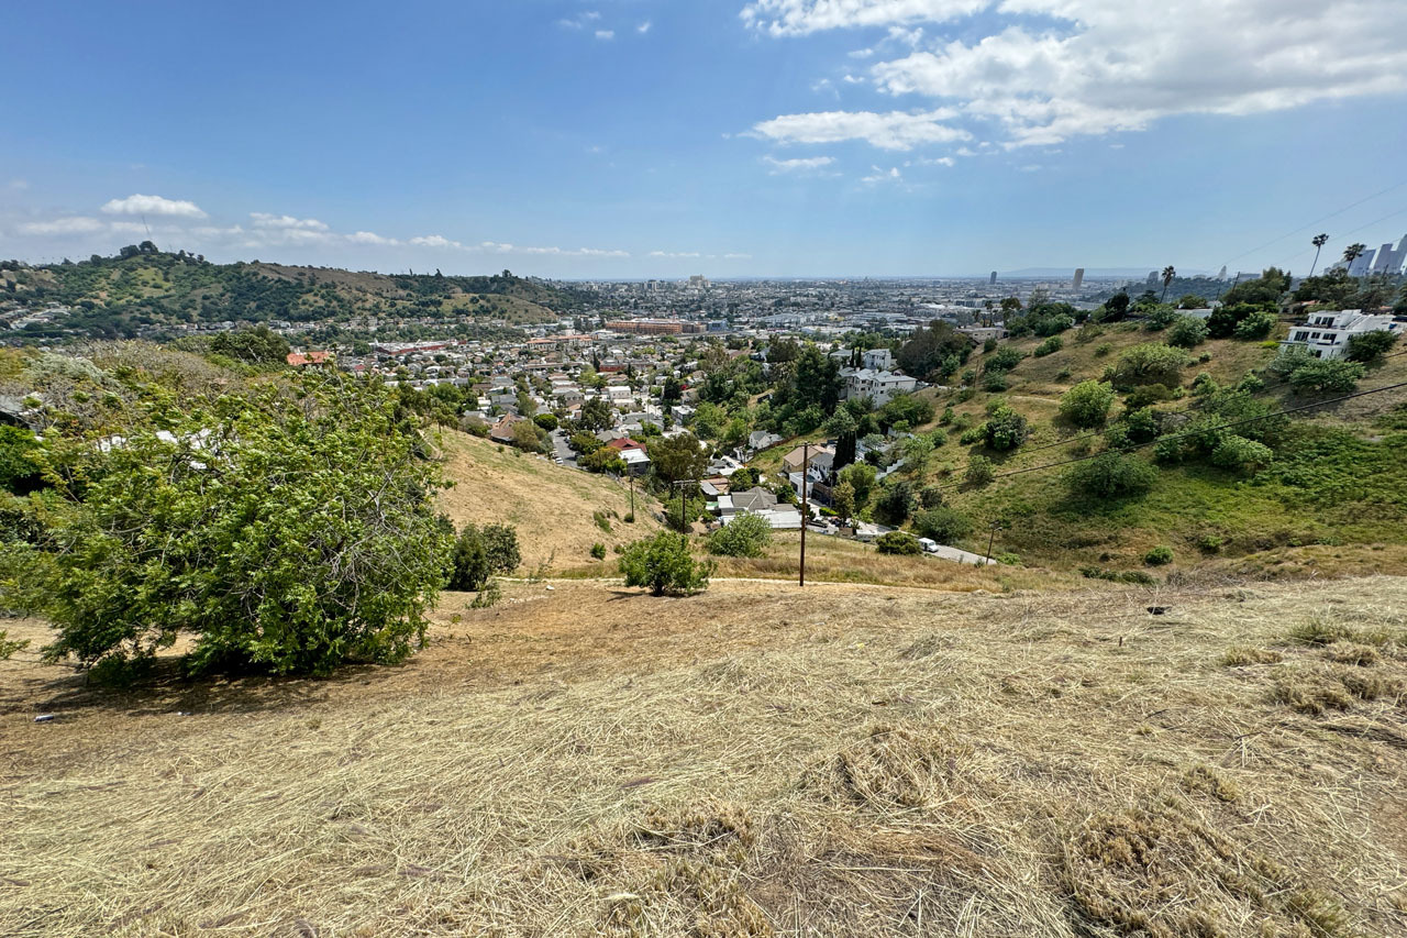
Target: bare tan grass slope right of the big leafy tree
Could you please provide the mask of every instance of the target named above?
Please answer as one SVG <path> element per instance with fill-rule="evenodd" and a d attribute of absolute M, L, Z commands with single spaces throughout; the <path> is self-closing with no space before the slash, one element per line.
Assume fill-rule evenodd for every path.
<path fill-rule="evenodd" d="M 636 520 L 626 524 L 630 492 L 606 476 L 564 469 L 545 458 L 453 430 L 443 431 L 445 475 L 454 487 L 440 494 L 440 506 L 456 525 L 512 524 L 518 527 L 523 570 L 588 566 L 615 572 L 613 555 L 591 559 L 592 544 L 628 544 L 658 530 L 658 504 L 636 486 Z M 605 531 L 597 513 L 611 525 Z"/>

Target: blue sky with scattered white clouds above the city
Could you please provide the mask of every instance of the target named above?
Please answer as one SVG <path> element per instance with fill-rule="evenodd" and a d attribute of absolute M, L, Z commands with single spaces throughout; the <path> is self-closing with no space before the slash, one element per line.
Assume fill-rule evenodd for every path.
<path fill-rule="evenodd" d="M 1300 272 L 1318 230 L 1407 232 L 1400 0 L 146 0 L 6 32 L 0 256 L 30 261 L 142 215 L 218 261 L 585 279 Z"/>

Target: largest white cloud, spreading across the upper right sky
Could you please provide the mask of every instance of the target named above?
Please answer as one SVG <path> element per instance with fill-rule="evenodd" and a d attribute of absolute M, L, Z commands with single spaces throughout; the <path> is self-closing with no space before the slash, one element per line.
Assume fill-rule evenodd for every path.
<path fill-rule="evenodd" d="M 991 23 L 972 39 L 924 41 L 917 27 L 983 8 Z M 881 90 L 995 124 L 1010 149 L 1178 114 L 1400 94 L 1401 13 L 1401 0 L 1179 0 L 1151 25 L 1126 0 L 753 0 L 741 15 L 771 35 L 886 28 L 915 48 L 872 66 Z"/>

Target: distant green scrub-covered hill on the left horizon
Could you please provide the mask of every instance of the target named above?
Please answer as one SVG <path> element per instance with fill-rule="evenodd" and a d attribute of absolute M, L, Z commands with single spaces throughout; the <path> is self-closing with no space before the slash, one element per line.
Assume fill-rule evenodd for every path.
<path fill-rule="evenodd" d="M 557 320 L 568 292 L 508 272 L 454 277 L 383 275 L 279 263 L 210 263 L 194 255 L 132 254 L 79 263 L 6 270 L 0 315 L 10 310 L 70 307 L 24 335 L 118 338 L 160 335 L 189 323 L 346 323 L 429 317 L 449 325 L 525 325 Z"/>

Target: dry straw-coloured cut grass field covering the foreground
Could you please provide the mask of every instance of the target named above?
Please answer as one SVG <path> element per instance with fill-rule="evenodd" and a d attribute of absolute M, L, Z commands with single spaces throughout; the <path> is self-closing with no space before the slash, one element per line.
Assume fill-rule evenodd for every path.
<path fill-rule="evenodd" d="M 466 599 L 333 680 L 0 665 L 0 934 L 1407 935 L 1404 579 Z"/>

